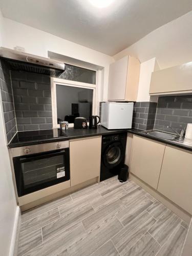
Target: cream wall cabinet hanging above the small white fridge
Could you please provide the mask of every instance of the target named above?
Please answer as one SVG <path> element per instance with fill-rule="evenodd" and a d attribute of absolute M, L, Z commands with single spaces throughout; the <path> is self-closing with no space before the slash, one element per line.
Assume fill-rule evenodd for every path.
<path fill-rule="evenodd" d="M 140 62 L 125 56 L 110 65 L 109 101 L 136 101 L 139 85 Z"/>

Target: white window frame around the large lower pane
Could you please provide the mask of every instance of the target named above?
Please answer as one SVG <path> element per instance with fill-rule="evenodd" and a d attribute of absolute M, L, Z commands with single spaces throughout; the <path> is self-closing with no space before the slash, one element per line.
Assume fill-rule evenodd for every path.
<path fill-rule="evenodd" d="M 97 75 L 96 75 L 96 83 L 97 83 Z M 52 119 L 53 119 L 53 129 L 59 128 L 59 124 L 57 123 L 57 96 L 56 96 L 56 84 L 61 86 L 70 86 L 77 88 L 86 88 L 93 90 L 93 102 L 92 102 L 92 115 L 96 115 L 97 113 L 97 86 L 92 83 L 85 82 L 77 82 L 66 79 L 54 78 L 51 77 L 51 103 L 52 103 Z M 69 127 L 73 127 L 74 124 L 69 124 Z"/>

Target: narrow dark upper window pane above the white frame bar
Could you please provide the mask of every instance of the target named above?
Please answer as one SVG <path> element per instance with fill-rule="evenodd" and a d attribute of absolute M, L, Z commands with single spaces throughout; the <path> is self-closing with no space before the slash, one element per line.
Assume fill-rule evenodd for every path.
<path fill-rule="evenodd" d="M 59 78 L 96 84 L 96 71 L 66 64 L 66 70 Z"/>

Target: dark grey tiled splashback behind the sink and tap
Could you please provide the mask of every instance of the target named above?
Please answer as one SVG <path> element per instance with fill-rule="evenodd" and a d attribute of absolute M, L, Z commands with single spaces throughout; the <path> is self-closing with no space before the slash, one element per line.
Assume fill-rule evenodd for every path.
<path fill-rule="evenodd" d="M 159 97 L 155 129 L 171 131 L 167 125 L 186 130 L 187 123 L 192 123 L 192 95 Z"/>

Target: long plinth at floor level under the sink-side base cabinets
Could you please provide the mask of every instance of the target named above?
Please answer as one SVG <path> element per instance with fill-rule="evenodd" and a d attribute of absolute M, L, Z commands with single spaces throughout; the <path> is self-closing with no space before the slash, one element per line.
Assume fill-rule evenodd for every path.
<path fill-rule="evenodd" d="M 130 173 L 129 175 L 130 180 L 133 180 L 136 184 L 141 186 L 145 191 L 147 191 L 149 194 L 151 194 L 153 197 L 155 197 L 158 201 L 160 201 L 162 204 L 164 204 L 167 208 L 172 210 L 176 215 L 178 215 L 182 220 L 184 220 L 186 223 L 190 223 L 191 215 L 180 208 L 177 204 L 174 202 L 168 200 L 166 197 L 161 195 L 157 190 L 154 188 L 148 186 L 145 182 L 137 178 L 134 174 Z"/>

